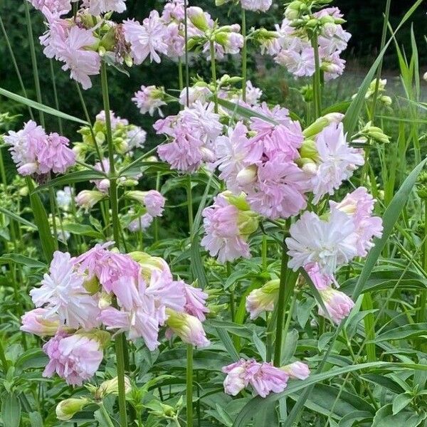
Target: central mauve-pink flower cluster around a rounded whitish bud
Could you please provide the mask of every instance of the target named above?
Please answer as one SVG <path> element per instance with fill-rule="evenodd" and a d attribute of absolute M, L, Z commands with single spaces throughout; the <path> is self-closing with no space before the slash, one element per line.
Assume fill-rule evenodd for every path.
<path fill-rule="evenodd" d="M 288 218 L 307 205 L 305 193 L 310 181 L 297 166 L 298 149 L 304 140 L 300 123 L 288 116 L 288 110 L 267 105 L 255 111 L 271 117 L 273 123 L 253 117 L 252 134 L 239 122 L 228 137 L 217 142 L 220 178 L 234 192 L 248 195 L 251 209 L 268 218 Z"/>

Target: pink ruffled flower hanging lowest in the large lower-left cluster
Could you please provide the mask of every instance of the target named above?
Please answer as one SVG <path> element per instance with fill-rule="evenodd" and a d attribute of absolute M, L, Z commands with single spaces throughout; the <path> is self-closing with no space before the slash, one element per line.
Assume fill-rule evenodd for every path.
<path fill-rule="evenodd" d="M 67 336 L 58 332 L 43 345 L 43 352 L 49 357 L 49 363 L 43 376 L 58 376 L 67 384 L 81 386 L 83 381 L 91 379 L 102 362 L 102 349 L 96 339 L 84 334 Z"/>

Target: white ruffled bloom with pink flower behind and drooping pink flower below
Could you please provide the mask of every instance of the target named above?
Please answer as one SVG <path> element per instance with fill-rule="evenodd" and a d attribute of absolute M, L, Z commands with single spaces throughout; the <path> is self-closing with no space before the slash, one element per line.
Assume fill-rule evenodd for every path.
<path fill-rule="evenodd" d="M 290 226 L 288 265 L 307 270 L 334 322 L 339 323 L 353 307 L 347 295 L 332 288 L 332 283 L 337 284 L 334 274 L 353 258 L 366 256 L 374 245 L 372 239 L 381 237 L 382 221 L 372 216 L 373 210 L 374 199 L 359 187 L 340 203 L 331 201 L 328 218 L 307 211 Z M 325 315 L 321 307 L 319 313 Z"/>

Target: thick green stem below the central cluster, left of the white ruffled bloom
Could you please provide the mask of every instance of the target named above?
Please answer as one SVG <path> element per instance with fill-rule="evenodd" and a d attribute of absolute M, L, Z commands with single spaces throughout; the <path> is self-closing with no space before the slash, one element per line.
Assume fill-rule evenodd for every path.
<path fill-rule="evenodd" d="M 283 252 L 282 252 L 282 264 L 280 266 L 280 285 L 279 285 L 279 295 L 278 295 L 278 318 L 276 322 L 275 330 L 275 349 L 274 349 L 274 358 L 273 364 L 275 367 L 280 367 L 282 363 L 282 347 L 283 340 L 285 339 L 284 332 L 284 321 L 285 321 L 285 311 L 288 305 L 290 295 L 295 287 L 295 282 L 297 280 L 297 273 L 288 269 L 288 254 L 286 253 L 285 238 L 283 238 Z M 292 313 L 289 313 L 289 316 Z"/>

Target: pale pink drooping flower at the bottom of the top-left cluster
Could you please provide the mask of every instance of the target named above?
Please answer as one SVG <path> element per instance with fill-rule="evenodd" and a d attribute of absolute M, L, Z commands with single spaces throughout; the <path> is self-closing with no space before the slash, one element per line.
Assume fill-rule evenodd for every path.
<path fill-rule="evenodd" d="M 73 26 L 56 53 L 56 58 L 65 62 L 62 69 L 70 70 L 70 78 L 78 81 L 83 89 L 92 87 L 90 75 L 100 73 L 100 56 L 90 50 L 95 43 L 97 39 L 91 30 Z"/>

